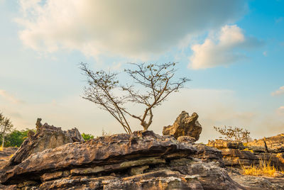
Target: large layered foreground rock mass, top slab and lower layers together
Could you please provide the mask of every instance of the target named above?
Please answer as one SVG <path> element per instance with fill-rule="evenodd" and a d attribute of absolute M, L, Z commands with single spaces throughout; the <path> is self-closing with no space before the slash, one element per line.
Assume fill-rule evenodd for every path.
<path fill-rule="evenodd" d="M 194 158 L 197 149 L 152 131 L 110 135 L 35 152 L 1 183 L 18 189 L 244 189 L 217 162 Z"/>

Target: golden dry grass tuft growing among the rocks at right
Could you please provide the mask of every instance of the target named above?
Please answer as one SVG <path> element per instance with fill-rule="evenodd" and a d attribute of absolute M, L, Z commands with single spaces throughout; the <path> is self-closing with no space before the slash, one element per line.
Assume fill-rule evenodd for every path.
<path fill-rule="evenodd" d="M 274 166 L 271 166 L 271 160 L 260 160 L 258 167 L 255 165 L 251 165 L 250 167 L 242 166 L 242 170 L 245 175 L 252 176 L 275 177 L 277 172 L 284 173 L 284 171 L 278 171 Z"/>

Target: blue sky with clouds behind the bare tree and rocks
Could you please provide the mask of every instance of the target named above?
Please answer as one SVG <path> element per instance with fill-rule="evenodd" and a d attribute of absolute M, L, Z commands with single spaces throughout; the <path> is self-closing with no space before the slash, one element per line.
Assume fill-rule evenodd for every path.
<path fill-rule="evenodd" d="M 0 111 L 18 130 L 43 118 L 95 136 L 124 133 L 82 99 L 80 62 L 112 72 L 178 62 L 176 75 L 191 81 L 153 110 L 149 130 L 162 134 L 187 111 L 199 115 L 203 143 L 219 137 L 213 126 L 284 133 L 284 0 L 0 0 L 0 24 Z M 131 128 L 142 130 L 132 119 Z"/>

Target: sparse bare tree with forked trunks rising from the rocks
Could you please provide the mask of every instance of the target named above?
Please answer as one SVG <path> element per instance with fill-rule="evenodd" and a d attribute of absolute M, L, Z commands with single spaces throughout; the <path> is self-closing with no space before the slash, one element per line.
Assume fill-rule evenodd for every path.
<path fill-rule="evenodd" d="M 117 74 L 111 72 L 93 72 L 86 63 L 80 64 L 80 69 L 87 76 L 88 86 L 84 87 L 84 99 L 98 104 L 100 108 L 111 113 L 123 126 L 126 133 L 131 134 L 131 127 L 127 116 L 136 118 L 141 122 L 144 130 L 148 130 L 153 121 L 152 109 L 166 100 L 169 94 L 178 91 L 189 79 L 178 80 L 175 76 L 175 62 L 161 65 L 131 63 L 135 69 L 124 69 L 133 84 L 119 84 Z M 114 91 L 121 90 L 124 95 L 116 96 Z M 140 89 L 140 90 L 138 90 Z M 141 91 L 142 89 L 142 91 Z M 142 104 L 145 110 L 141 116 L 133 115 L 124 104 L 132 102 Z"/>

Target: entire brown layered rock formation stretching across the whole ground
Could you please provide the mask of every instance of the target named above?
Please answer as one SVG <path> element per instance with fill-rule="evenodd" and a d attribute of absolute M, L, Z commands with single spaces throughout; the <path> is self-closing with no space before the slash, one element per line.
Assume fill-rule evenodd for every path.
<path fill-rule="evenodd" d="M 266 138 L 269 152 L 261 140 L 251 146 L 229 140 L 195 144 L 188 126 L 198 116 L 182 113 L 175 123 L 186 132 L 178 136 L 146 130 L 84 142 L 76 128 L 62 131 L 45 123 L 1 170 L 0 189 L 284 189 L 283 174 L 251 177 L 238 169 L 260 159 L 281 168 L 282 135 Z M 16 149 L 6 150 L 3 160 Z"/>

